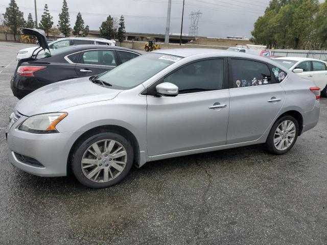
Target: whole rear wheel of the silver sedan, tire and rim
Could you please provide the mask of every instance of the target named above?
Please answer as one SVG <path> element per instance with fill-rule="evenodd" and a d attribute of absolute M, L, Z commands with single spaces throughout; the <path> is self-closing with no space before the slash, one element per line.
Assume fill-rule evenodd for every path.
<path fill-rule="evenodd" d="M 292 149 L 297 135 L 297 120 L 293 116 L 283 116 L 272 126 L 266 141 L 266 148 L 272 154 L 285 154 Z"/>

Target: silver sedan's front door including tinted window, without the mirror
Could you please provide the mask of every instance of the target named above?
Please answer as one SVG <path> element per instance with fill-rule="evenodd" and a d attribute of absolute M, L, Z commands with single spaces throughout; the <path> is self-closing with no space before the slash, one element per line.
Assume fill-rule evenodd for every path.
<path fill-rule="evenodd" d="M 149 156 L 226 143 L 229 90 L 224 89 L 224 63 L 209 59 L 185 65 L 161 80 L 175 84 L 177 96 L 147 95 Z"/>

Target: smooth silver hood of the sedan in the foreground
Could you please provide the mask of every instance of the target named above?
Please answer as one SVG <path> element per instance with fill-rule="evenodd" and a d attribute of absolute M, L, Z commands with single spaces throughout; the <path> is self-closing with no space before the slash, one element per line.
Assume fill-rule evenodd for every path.
<path fill-rule="evenodd" d="M 26 116 L 58 112 L 72 106 L 112 100 L 121 91 L 92 83 L 89 78 L 71 79 L 35 90 L 17 103 L 16 110 Z"/>

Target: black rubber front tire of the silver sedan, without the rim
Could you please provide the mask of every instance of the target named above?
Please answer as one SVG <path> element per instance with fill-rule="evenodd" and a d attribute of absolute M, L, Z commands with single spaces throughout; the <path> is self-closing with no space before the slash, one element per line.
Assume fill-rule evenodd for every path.
<path fill-rule="evenodd" d="M 89 180 L 82 171 L 82 166 L 81 166 L 81 160 L 83 157 L 84 152 L 89 148 L 90 145 L 94 144 L 95 142 L 98 142 L 100 140 L 105 140 L 105 139 L 110 139 L 110 140 L 115 140 L 122 144 L 127 152 L 127 162 L 125 164 L 124 170 L 114 179 L 109 180 L 108 182 L 95 182 Z M 129 173 L 129 170 L 132 167 L 133 164 L 133 147 L 131 143 L 122 135 L 117 134 L 117 133 L 111 133 L 111 132 L 104 132 L 104 133 L 98 133 L 92 136 L 87 137 L 84 140 L 81 140 L 76 147 L 75 147 L 75 152 L 72 155 L 71 158 L 71 165 L 72 165 L 72 171 L 76 179 L 83 185 L 90 187 L 90 188 L 106 188 L 115 184 L 118 184 L 121 182 Z"/>

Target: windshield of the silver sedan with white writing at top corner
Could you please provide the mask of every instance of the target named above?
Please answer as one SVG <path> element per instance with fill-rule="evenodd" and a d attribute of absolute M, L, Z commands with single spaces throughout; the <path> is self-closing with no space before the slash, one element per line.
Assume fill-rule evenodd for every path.
<path fill-rule="evenodd" d="M 101 80 L 112 86 L 119 86 L 124 89 L 135 87 L 149 78 L 156 75 L 159 71 L 180 60 L 180 57 L 164 54 L 147 54 L 138 56 L 122 65 L 109 70 L 99 77 Z"/>

